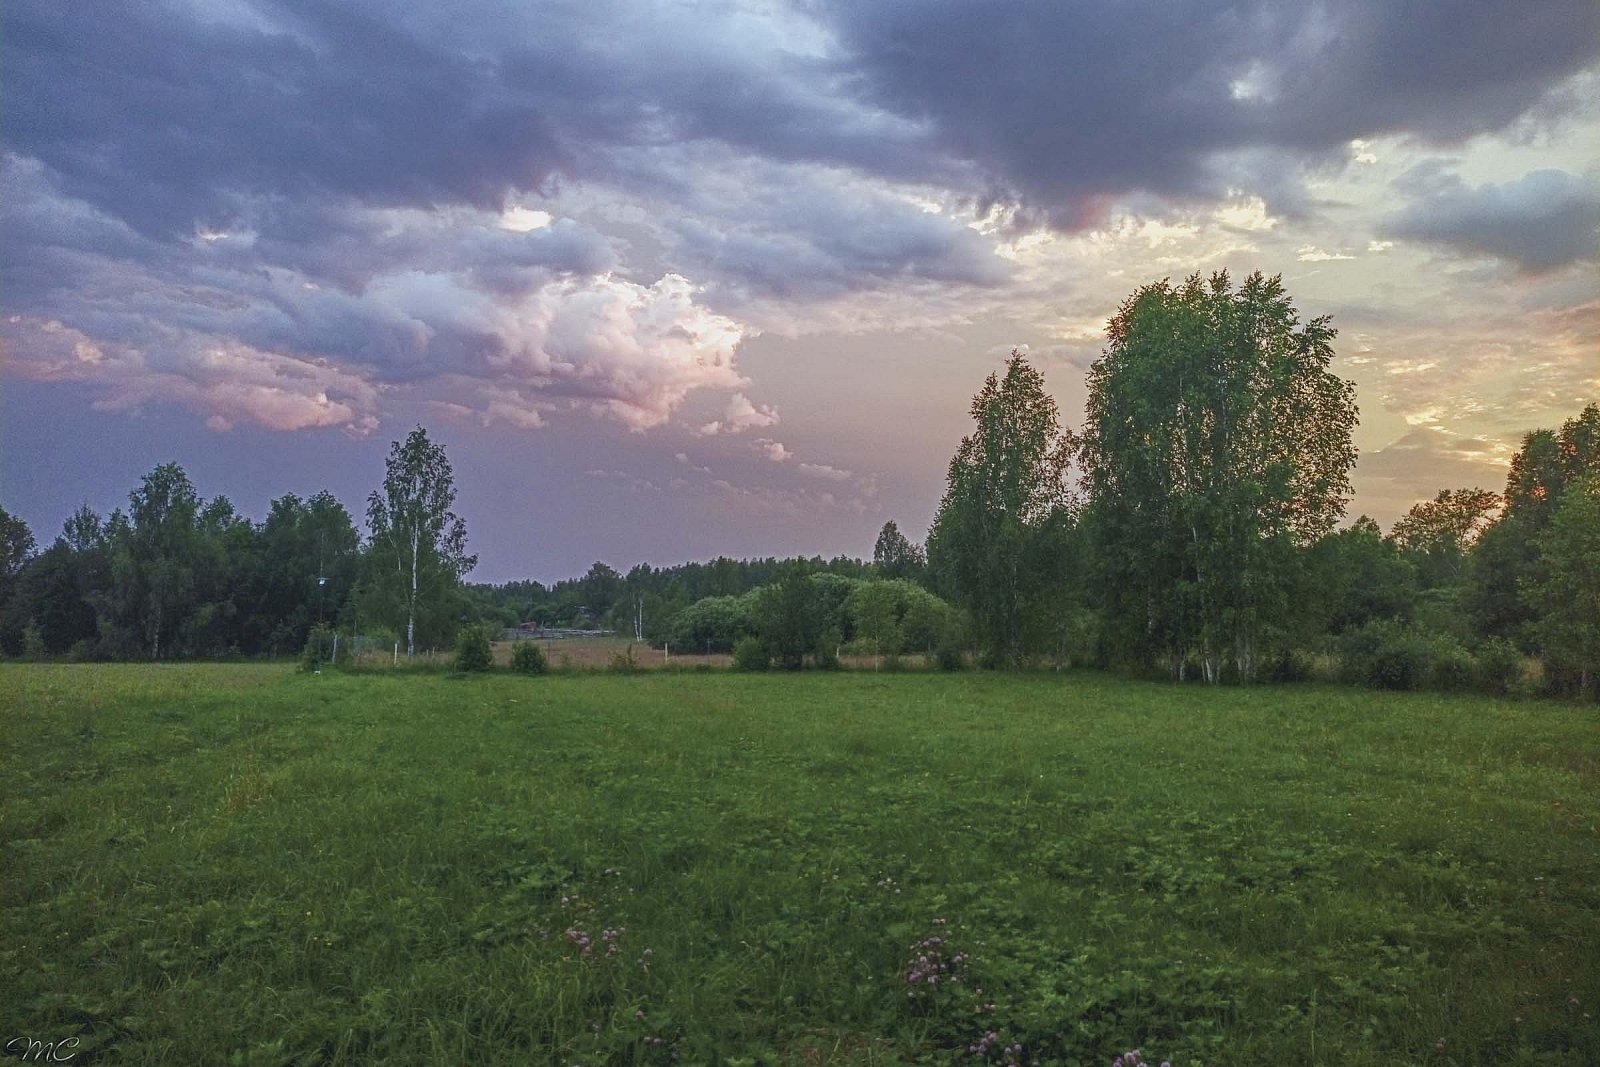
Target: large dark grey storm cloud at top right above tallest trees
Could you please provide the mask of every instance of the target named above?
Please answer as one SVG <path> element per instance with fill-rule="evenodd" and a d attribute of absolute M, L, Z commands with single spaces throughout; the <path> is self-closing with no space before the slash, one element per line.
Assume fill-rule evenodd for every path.
<path fill-rule="evenodd" d="M 1352 138 L 1499 130 L 1600 54 L 1592 0 L 829 10 L 870 99 L 1067 226 L 1133 189 L 1250 182 L 1264 157 L 1283 171 Z"/>

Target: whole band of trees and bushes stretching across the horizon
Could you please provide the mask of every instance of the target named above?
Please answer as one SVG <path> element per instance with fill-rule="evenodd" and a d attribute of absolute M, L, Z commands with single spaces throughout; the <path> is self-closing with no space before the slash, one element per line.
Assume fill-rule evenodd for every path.
<path fill-rule="evenodd" d="M 534 624 L 747 669 L 864 653 L 1592 699 L 1600 406 L 1530 429 L 1501 491 L 1440 488 L 1386 533 L 1346 522 L 1358 413 L 1330 371 L 1334 338 L 1277 277 L 1142 286 L 1107 326 L 1083 426 L 1062 426 L 1013 354 L 971 402 L 926 544 L 888 522 L 870 560 L 597 561 L 549 587 L 470 584 L 454 474 L 422 427 L 394 443 L 365 530 L 326 491 L 254 522 L 163 464 L 48 545 L 0 510 L 0 651 L 274 657 L 341 633 L 410 654 Z"/>

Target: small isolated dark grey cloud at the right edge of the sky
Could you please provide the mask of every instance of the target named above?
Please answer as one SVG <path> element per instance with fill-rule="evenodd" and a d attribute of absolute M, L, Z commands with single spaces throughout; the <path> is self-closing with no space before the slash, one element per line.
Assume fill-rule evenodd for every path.
<path fill-rule="evenodd" d="M 1498 256 L 1528 272 L 1600 259 L 1600 182 L 1592 178 L 1541 170 L 1469 186 L 1424 165 L 1397 184 L 1411 203 L 1387 221 L 1394 237 Z"/>

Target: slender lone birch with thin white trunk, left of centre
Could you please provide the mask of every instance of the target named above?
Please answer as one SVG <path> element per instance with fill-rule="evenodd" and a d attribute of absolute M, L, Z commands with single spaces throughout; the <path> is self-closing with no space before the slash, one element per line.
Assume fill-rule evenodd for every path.
<path fill-rule="evenodd" d="M 477 565 L 467 526 L 451 512 L 456 477 L 440 445 L 421 426 L 389 450 L 382 490 L 366 501 L 366 528 L 378 577 L 405 617 L 406 656 L 416 654 L 418 614 L 459 592 Z"/>

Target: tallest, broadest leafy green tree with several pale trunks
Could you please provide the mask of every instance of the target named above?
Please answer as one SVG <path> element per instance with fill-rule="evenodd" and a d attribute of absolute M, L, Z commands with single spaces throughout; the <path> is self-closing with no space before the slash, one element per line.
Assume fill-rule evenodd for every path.
<path fill-rule="evenodd" d="M 1334 330 L 1282 280 L 1226 272 L 1138 290 L 1090 370 L 1085 485 L 1106 601 L 1125 638 L 1242 681 L 1293 611 L 1296 547 L 1344 514 L 1355 390 Z"/>

